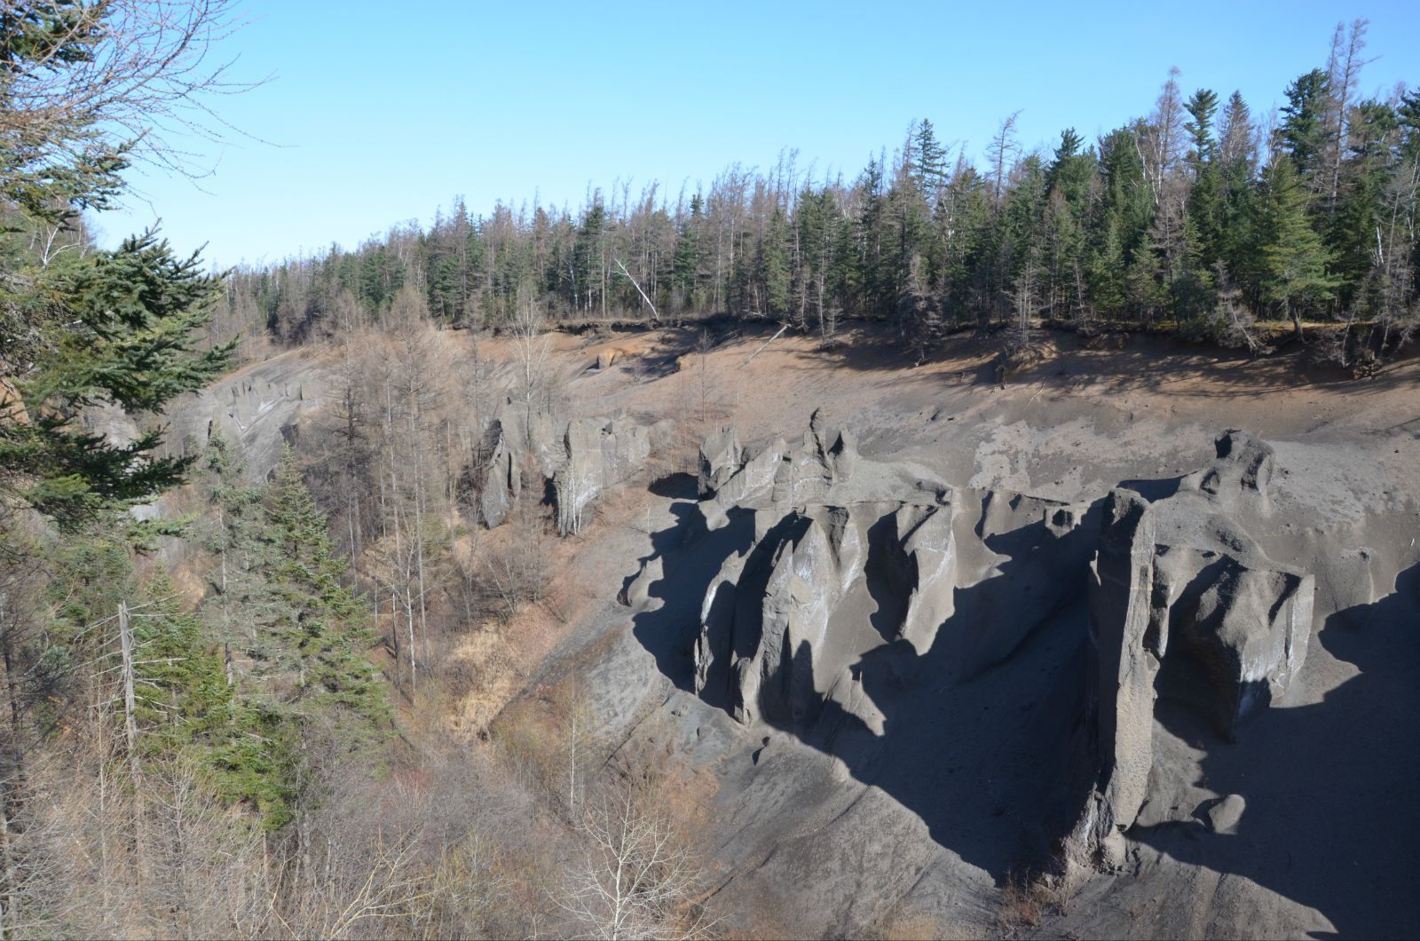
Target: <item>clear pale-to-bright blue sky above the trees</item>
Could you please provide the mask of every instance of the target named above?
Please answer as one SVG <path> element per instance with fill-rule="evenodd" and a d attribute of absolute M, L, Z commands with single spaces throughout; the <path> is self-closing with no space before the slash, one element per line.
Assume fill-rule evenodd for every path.
<path fill-rule="evenodd" d="M 1420 84 L 1414 0 L 1162 3 L 366 3 L 246 0 L 216 102 L 264 142 L 204 146 L 193 183 L 131 172 L 142 198 L 92 219 L 101 242 L 162 219 L 226 266 L 354 246 L 463 195 L 577 206 L 589 185 L 662 181 L 674 199 L 784 148 L 859 172 L 929 118 L 980 159 L 1022 109 L 1021 144 L 1147 114 L 1170 65 L 1184 94 L 1241 90 L 1265 115 L 1325 65 L 1339 20 L 1370 20 L 1362 91 Z"/>

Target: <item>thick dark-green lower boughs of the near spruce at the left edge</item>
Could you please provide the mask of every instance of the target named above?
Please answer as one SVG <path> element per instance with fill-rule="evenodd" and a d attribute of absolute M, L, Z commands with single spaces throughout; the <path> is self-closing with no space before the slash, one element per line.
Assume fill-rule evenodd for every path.
<path fill-rule="evenodd" d="M 156 412 L 213 380 L 231 345 L 196 343 L 219 290 L 196 256 L 173 256 L 153 233 L 7 280 L 0 345 L 21 331 L 33 360 L 13 377 L 18 401 L 0 404 L 0 492 L 80 526 L 179 483 L 192 459 L 159 456 L 160 428 L 114 443 L 81 416 L 99 404 Z"/>

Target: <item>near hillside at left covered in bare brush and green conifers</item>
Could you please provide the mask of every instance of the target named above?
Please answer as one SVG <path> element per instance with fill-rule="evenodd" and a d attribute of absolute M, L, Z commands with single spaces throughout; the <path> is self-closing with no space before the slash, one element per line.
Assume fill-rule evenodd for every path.
<path fill-rule="evenodd" d="M 457 672 L 430 623 L 496 623 L 541 583 L 521 549 L 477 579 L 440 557 L 467 436 L 453 478 L 398 466 L 435 431 L 429 324 L 379 388 L 381 441 L 354 371 L 335 456 L 257 473 L 220 431 L 172 439 L 236 365 L 210 343 L 233 281 L 156 232 L 102 249 L 84 213 L 135 163 L 193 172 L 178 138 L 222 139 L 234 13 L 0 6 L 0 935 L 703 934 L 699 857 L 645 789 L 582 783 L 585 728 L 567 787 L 559 722 L 473 749 L 430 718 Z"/>

